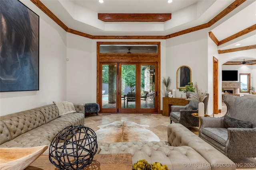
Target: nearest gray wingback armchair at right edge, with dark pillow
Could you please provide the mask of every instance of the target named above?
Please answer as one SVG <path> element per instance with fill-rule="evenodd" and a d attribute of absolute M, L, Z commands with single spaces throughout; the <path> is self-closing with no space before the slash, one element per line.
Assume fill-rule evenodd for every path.
<path fill-rule="evenodd" d="M 256 98 L 225 95 L 223 117 L 202 117 L 199 137 L 229 158 L 256 157 Z"/>

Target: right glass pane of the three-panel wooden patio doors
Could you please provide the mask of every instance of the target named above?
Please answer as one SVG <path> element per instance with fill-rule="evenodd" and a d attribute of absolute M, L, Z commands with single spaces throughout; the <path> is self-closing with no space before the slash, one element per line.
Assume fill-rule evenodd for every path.
<path fill-rule="evenodd" d="M 155 108 L 155 65 L 140 66 L 140 108 Z"/>

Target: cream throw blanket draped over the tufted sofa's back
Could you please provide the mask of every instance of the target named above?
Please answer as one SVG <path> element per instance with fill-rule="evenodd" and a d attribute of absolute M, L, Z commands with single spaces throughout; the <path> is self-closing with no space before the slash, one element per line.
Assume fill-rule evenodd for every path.
<path fill-rule="evenodd" d="M 74 104 L 67 102 L 67 101 L 57 101 L 53 102 L 59 110 L 59 116 L 63 116 L 70 113 L 76 113 L 76 109 Z"/>

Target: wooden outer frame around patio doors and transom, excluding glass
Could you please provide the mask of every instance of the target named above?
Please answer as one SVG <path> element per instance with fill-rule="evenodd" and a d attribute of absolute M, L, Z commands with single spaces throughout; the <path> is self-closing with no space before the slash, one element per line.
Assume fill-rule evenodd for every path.
<path fill-rule="evenodd" d="M 135 54 L 135 53 L 125 53 L 125 54 L 112 54 L 112 53 L 100 53 L 100 45 L 157 45 L 156 54 Z M 156 101 L 155 107 L 157 113 L 160 113 L 160 42 L 97 42 L 97 89 L 96 89 L 96 102 L 100 103 L 100 63 L 112 63 L 112 62 L 137 62 L 137 63 L 156 63 L 157 77 L 155 84 L 155 96 Z M 101 106 L 100 106 L 101 108 Z M 101 109 L 100 109 L 101 112 Z"/>

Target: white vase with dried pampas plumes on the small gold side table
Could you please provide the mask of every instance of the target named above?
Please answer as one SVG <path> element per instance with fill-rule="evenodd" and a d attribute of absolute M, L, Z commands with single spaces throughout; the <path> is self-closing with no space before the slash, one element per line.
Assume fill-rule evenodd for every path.
<path fill-rule="evenodd" d="M 204 99 L 207 97 L 206 92 L 202 93 L 202 90 L 198 90 L 197 83 L 195 84 L 196 94 L 190 94 L 190 98 L 186 100 L 195 100 L 198 101 L 198 116 L 204 117 Z"/>

